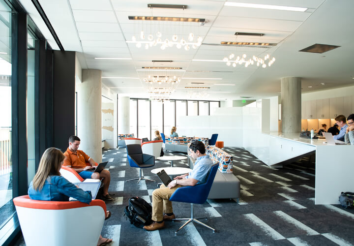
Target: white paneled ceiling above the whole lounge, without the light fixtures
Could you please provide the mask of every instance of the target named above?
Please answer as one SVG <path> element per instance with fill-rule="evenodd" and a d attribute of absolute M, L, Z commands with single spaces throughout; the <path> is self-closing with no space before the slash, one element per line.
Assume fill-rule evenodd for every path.
<path fill-rule="evenodd" d="M 182 79 L 171 96 L 188 99 L 184 87 L 206 86 L 208 99 L 240 99 L 240 96 L 262 98 L 280 92 L 282 77 L 302 78 L 303 92 L 326 90 L 354 84 L 354 24 L 353 0 L 233 0 L 234 2 L 260 3 L 305 7 L 305 12 L 269 10 L 224 6 L 225 0 L 39 0 L 54 27 L 65 50 L 82 53 L 83 68 L 102 70 L 103 84 L 113 92 L 132 97 L 148 97 L 142 66 L 175 66 L 185 72 L 175 72 Z M 53 43 L 53 37 L 43 27 L 38 13 L 30 6 L 30 0 L 21 0 L 32 19 L 43 29 Z M 148 3 L 186 4 L 185 10 L 148 8 Z M 204 26 L 192 28 L 203 37 L 203 44 L 189 51 L 176 46 L 161 50 L 159 45 L 148 50 L 142 45 L 126 43 L 132 35 L 139 37 L 144 25 L 145 35 L 155 30 L 155 22 L 135 22 L 128 16 L 167 16 L 205 18 Z M 189 24 L 160 22 L 163 40 L 171 39 L 179 30 L 186 35 Z M 265 33 L 263 37 L 236 36 L 235 32 Z M 152 33 L 155 34 L 155 33 Z M 166 36 L 167 35 L 167 36 Z M 221 41 L 277 43 L 270 49 L 221 46 Z M 339 45 L 340 48 L 323 54 L 298 52 L 315 43 Z M 212 45 L 214 44 L 214 45 Z M 216 45 L 215 45 L 216 44 Z M 55 44 L 53 47 L 57 47 Z M 193 60 L 222 60 L 231 52 L 248 56 L 271 54 L 276 58 L 271 67 L 226 66 L 225 62 L 201 62 Z M 94 58 L 130 58 L 131 60 L 96 60 Z M 172 60 L 151 62 L 152 60 Z M 161 72 L 163 76 L 165 72 Z M 156 72 L 155 72 L 155 75 Z M 129 78 L 129 79 L 128 79 Z M 184 79 L 196 78 L 196 79 Z M 198 79 L 200 78 L 200 79 Z M 205 80 L 219 78 L 221 80 Z M 204 84 L 191 84 L 204 83 Z M 322 86 L 321 83 L 325 85 Z M 215 84 L 230 84 L 220 86 Z M 312 86 L 312 88 L 308 88 Z M 193 98 L 195 99 L 195 98 Z"/>

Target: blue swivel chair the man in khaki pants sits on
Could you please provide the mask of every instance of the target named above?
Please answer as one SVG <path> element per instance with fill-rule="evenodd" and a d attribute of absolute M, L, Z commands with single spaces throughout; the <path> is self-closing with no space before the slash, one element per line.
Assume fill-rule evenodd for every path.
<path fill-rule="evenodd" d="M 204 223 L 202 223 L 201 221 L 198 220 L 198 219 L 202 219 L 202 218 L 195 218 L 194 217 L 194 215 L 193 215 L 193 204 L 194 203 L 203 204 L 203 203 L 205 203 L 207 201 L 207 197 L 209 195 L 209 191 L 210 191 L 211 185 L 212 185 L 212 183 L 214 181 L 218 166 L 219 166 L 219 163 L 216 163 L 210 168 L 209 175 L 208 175 L 206 183 L 197 184 L 197 185 L 194 185 L 194 186 L 179 187 L 178 189 L 176 189 L 176 191 L 170 197 L 170 201 L 173 201 L 173 202 L 188 202 L 188 203 L 191 204 L 191 216 L 190 216 L 190 218 L 176 218 L 176 219 L 174 219 L 174 220 L 188 220 L 181 227 L 179 227 L 179 229 L 177 231 L 182 229 L 184 226 L 186 226 L 190 222 L 195 221 L 198 224 L 201 224 L 201 225 L 213 230 L 213 233 L 215 232 L 214 228 L 211 228 L 210 226 L 208 226 L 208 225 L 206 225 L 206 224 L 204 224 Z M 206 217 L 203 217 L 203 218 L 206 218 Z M 177 231 L 175 232 L 175 235 L 177 235 Z"/>

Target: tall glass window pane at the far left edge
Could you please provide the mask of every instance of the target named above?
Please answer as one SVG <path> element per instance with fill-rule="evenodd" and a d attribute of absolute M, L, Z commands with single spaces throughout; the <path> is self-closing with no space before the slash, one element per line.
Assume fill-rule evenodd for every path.
<path fill-rule="evenodd" d="M 11 9 L 0 0 L 0 225 L 12 204 Z"/>

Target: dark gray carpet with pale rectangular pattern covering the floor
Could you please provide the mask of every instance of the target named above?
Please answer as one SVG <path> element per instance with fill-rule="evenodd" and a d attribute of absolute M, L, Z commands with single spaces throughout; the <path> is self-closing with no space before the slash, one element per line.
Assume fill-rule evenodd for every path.
<path fill-rule="evenodd" d="M 104 150 L 103 160 L 109 161 L 114 201 L 107 202 L 112 211 L 102 229 L 104 237 L 113 238 L 111 246 L 143 245 L 353 245 L 354 210 L 338 205 L 315 205 L 315 169 L 308 158 L 285 166 L 269 168 L 241 148 L 224 148 L 234 156 L 234 174 L 241 182 L 239 203 L 234 199 L 208 200 L 195 206 L 196 216 L 208 216 L 207 223 L 216 233 L 199 224 L 189 224 L 175 236 L 182 222 L 165 222 L 165 228 L 148 232 L 126 220 L 124 208 L 132 196 L 148 202 L 156 183 L 125 180 L 139 176 L 139 170 L 126 163 L 126 150 Z M 167 153 L 172 154 L 172 153 Z M 173 153 L 183 155 L 181 153 Z M 175 161 L 175 166 L 187 167 L 187 160 Z M 156 161 L 157 167 L 169 163 Z M 143 169 L 145 177 L 158 181 L 153 168 Z M 226 187 L 227 188 L 227 187 Z M 354 191 L 354 190 L 352 190 Z M 338 194 L 339 195 L 339 194 Z M 187 217 L 190 205 L 174 203 L 177 217 Z M 16 245 L 22 245 L 20 239 Z"/>

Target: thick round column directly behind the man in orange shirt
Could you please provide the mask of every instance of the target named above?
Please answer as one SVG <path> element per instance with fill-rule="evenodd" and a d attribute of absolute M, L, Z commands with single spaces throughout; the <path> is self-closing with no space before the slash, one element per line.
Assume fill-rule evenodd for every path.
<path fill-rule="evenodd" d="M 83 69 L 77 94 L 77 134 L 83 150 L 97 163 L 102 162 L 102 71 Z"/>

